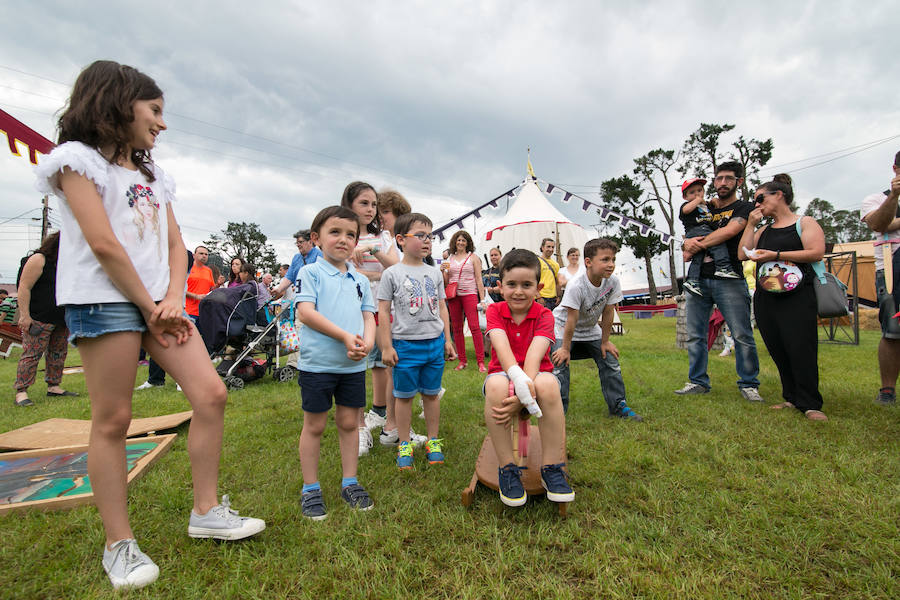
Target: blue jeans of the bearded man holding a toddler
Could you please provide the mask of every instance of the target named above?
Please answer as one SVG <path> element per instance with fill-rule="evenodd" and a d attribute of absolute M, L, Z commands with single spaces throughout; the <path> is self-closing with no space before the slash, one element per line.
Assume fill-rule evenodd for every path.
<path fill-rule="evenodd" d="M 707 334 L 709 317 L 713 304 L 718 306 L 731 329 L 734 338 L 734 365 L 738 374 L 738 387 L 759 387 L 759 357 L 756 355 L 756 341 L 750 325 L 750 292 L 743 279 L 700 279 L 702 296 L 687 294 L 687 349 L 688 379 L 691 383 L 709 389 L 709 374 L 706 372 L 709 351 Z"/>

